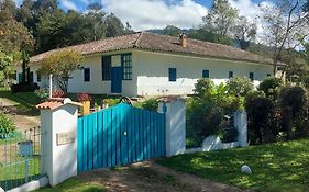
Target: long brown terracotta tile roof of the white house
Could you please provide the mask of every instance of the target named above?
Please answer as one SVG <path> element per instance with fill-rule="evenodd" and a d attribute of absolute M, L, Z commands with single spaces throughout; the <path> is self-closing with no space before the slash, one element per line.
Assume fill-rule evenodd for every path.
<path fill-rule="evenodd" d="M 137 32 L 130 35 L 90 42 L 81 45 L 69 46 L 66 48 L 53 49 L 31 57 L 30 61 L 41 61 L 46 56 L 63 49 L 74 49 L 82 55 L 91 55 L 98 53 L 109 53 L 114 50 L 135 48 L 151 52 L 164 52 L 201 57 L 214 57 L 232 60 L 272 64 L 272 59 L 269 58 L 254 55 L 235 47 L 190 38 L 188 38 L 187 42 L 188 46 L 183 47 L 179 45 L 178 37 L 156 35 L 147 32 Z"/>

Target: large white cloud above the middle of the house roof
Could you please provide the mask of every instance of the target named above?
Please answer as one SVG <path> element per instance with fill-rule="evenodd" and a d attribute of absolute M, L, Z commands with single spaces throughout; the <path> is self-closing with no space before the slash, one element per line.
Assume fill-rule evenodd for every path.
<path fill-rule="evenodd" d="M 207 8 L 192 0 L 102 0 L 106 12 L 112 12 L 136 31 L 176 25 L 189 29 L 201 24 Z"/>

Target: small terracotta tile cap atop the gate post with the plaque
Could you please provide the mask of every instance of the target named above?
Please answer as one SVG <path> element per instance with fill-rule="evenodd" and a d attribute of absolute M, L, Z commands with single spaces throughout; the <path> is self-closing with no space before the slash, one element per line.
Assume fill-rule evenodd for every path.
<path fill-rule="evenodd" d="M 40 110 L 55 110 L 64 104 L 74 104 L 74 105 L 78 105 L 81 106 L 82 104 L 77 103 L 77 102 L 73 102 L 70 99 L 68 98 L 52 98 L 48 99 L 47 101 L 45 101 L 44 103 L 37 104 L 35 105 L 35 108 L 40 109 Z"/>

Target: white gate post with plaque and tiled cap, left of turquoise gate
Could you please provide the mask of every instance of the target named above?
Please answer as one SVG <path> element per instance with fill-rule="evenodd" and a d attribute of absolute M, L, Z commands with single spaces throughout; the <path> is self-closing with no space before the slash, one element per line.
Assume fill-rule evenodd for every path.
<path fill-rule="evenodd" d="M 79 103 L 49 99 L 41 110 L 42 163 L 52 187 L 77 174 L 77 118 Z"/>

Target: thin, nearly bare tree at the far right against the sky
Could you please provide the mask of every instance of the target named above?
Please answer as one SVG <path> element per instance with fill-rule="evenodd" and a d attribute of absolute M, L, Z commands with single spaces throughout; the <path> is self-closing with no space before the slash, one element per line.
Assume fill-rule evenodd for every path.
<path fill-rule="evenodd" d="M 304 12 L 305 0 L 276 0 L 275 5 L 263 8 L 263 24 L 266 42 L 273 47 L 274 75 L 285 48 L 294 48 L 297 36 L 308 33 Z"/>

